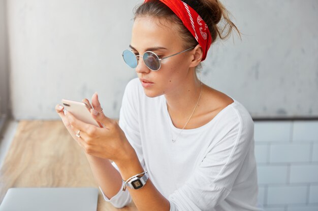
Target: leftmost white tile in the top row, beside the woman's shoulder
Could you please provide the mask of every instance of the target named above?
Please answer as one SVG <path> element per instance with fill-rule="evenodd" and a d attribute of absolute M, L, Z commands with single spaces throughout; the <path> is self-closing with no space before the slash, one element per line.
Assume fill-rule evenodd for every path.
<path fill-rule="evenodd" d="M 255 121 L 255 141 L 289 142 L 291 140 L 291 121 Z"/>

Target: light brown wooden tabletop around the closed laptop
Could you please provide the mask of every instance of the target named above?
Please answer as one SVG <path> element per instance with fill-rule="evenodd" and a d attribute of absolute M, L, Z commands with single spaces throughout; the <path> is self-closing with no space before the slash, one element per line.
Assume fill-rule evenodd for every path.
<path fill-rule="evenodd" d="M 0 203 L 11 187 L 97 187 L 89 163 L 61 120 L 20 121 L 0 170 Z M 112 206 L 99 192 L 98 211 Z"/>

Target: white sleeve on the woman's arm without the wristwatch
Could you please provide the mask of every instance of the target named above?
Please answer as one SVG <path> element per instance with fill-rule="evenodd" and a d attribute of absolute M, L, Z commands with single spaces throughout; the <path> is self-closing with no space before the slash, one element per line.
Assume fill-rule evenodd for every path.
<path fill-rule="evenodd" d="M 135 79 L 131 80 L 125 88 L 119 113 L 119 126 L 132 147 L 135 149 L 139 161 L 145 169 L 137 116 L 138 90 L 136 87 L 136 82 L 138 81 Z M 116 163 L 112 162 L 112 164 L 119 171 Z M 119 192 L 111 199 L 107 198 L 103 191 L 102 194 L 104 199 L 109 201 L 116 208 L 124 207 L 132 201 L 128 190 L 119 190 Z"/>

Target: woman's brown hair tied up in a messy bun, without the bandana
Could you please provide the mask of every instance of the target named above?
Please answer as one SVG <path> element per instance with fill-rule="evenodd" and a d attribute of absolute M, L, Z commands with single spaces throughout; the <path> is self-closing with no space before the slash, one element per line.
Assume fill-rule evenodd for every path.
<path fill-rule="evenodd" d="M 217 0 L 182 0 L 190 7 L 192 7 L 206 22 L 211 33 L 212 43 L 217 37 L 226 39 L 230 36 L 233 28 L 240 32 L 234 23 L 230 20 L 230 12 Z M 188 29 L 183 25 L 182 21 L 173 13 L 173 11 L 167 7 L 164 3 L 158 0 L 148 1 L 139 7 L 135 11 L 135 19 L 141 16 L 154 16 L 157 18 L 168 19 L 180 26 L 181 38 L 185 41 L 185 48 L 196 46 L 198 42 Z M 224 26 L 219 26 L 220 20 L 224 19 Z"/>

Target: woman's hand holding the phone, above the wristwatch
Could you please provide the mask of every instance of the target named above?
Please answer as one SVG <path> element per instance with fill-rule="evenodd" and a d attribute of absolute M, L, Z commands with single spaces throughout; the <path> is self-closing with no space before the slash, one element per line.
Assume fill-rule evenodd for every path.
<path fill-rule="evenodd" d="M 56 111 L 62 118 L 63 123 L 72 137 L 87 154 L 108 158 L 115 162 L 124 162 L 125 159 L 130 159 L 130 155 L 135 153 L 135 151 L 129 144 L 117 122 L 104 115 L 97 93 L 92 96 L 92 106 L 87 99 L 84 99 L 83 102 L 90 106 L 92 117 L 100 122 L 104 128 L 85 123 L 77 119 L 70 112 L 64 114 L 58 107 L 59 105 L 57 105 Z M 76 136 L 78 131 L 80 131 L 80 137 Z"/>

